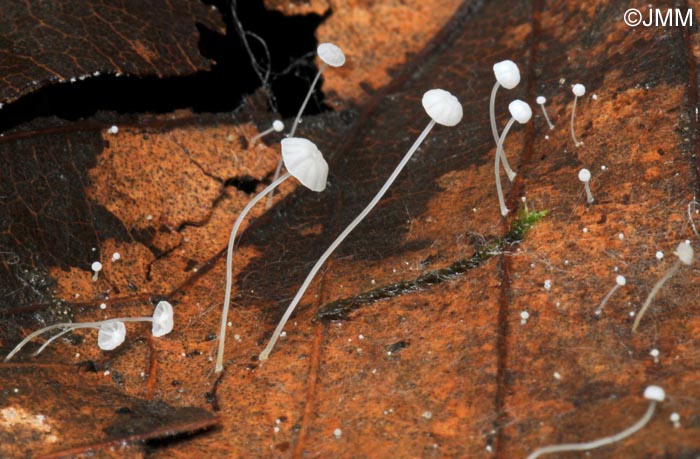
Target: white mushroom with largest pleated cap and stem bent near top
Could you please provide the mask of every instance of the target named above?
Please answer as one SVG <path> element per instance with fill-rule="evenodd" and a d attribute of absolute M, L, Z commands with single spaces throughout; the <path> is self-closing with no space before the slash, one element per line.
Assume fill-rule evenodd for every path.
<path fill-rule="evenodd" d="M 231 230 L 226 252 L 226 291 L 224 294 L 224 306 L 221 314 L 221 327 L 219 330 L 219 347 L 216 354 L 216 364 L 214 370 L 219 373 L 224 369 L 224 347 L 226 345 L 226 324 L 228 323 L 228 311 L 231 304 L 231 287 L 233 284 L 233 248 L 236 241 L 236 234 L 245 216 L 255 204 L 271 193 L 280 183 L 289 177 L 294 177 L 306 188 L 321 192 L 326 189 L 326 179 L 328 178 L 328 163 L 323 159 L 323 155 L 316 145 L 299 137 L 289 137 L 282 139 L 282 160 L 287 168 L 287 173 L 272 182 L 267 188 L 255 196 L 248 205 L 241 211 Z"/>

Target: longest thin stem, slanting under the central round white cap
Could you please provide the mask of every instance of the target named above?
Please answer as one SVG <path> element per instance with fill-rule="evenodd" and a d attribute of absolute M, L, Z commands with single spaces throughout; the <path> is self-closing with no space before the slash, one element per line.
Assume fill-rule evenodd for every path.
<path fill-rule="evenodd" d="M 282 330 L 284 329 L 284 326 L 287 324 L 287 321 L 291 317 L 292 313 L 294 312 L 294 309 L 297 307 L 299 304 L 299 301 L 301 301 L 301 298 L 304 296 L 304 293 L 306 293 L 306 290 L 309 288 L 309 285 L 311 285 L 311 281 L 313 281 L 314 277 L 318 273 L 318 271 L 321 269 L 321 266 L 326 262 L 328 257 L 331 256 L 333 251 L 345 240 L 345 238 L 352 232 L 353 229 L 364 219 L 367 214 L 370 213 L 370 211 L 374 208 L 374 206 L 377 205 L 379 200 L 384 196 L 384 194 L 387 192 L 389 187 L 391 186 L 392 183 L 394 183 L 394 180 L 396 180 L 396 177 L 398 177 L 399 173 L 401 173 L 401 170 L 406 166 L 408 161 L 411 159 L 411 156 L 416 152 L 418 147 L 420 146 L 421 143 L 423 143 L 423 140 L 427 137 L 428 133 L 430 133 L 430 130 L 435 126 L 435 120 L 430 120 L 428 125 L 423 129 L 423 132 L 418 136 L 415 142 L 413 142 L 413 145 L 411 145 L 411 148 L 408 150 L 408 153 L 403 157 L 401 162 L 399 163 L 398 166 L 396 166 L 396 169 L 394 169 L 394 172 L 391 173 L 389 178 L 387 179 L 386 183 L 382 186 L 382 188 L 377 192 L 377 194 L 372 198 L 372 201 L 370 201 L 369 204 L 367 204 L 367 207 L 365 207 L 360 214 L 355 217 L 355 219 L 343 230 L 342 233 L 333 241 L 333 243 L 326 249 L 325 252 L 323 252 L 323 255 L 318 259 L 316 264 L 314 265 L 313 268 L 311 268 L 311 271 L 309 274 L 306 276 L 306 279 L 304 279 L 304 283 L 301 285 L 299 288 L 299 291 L 296 293 L 294 296 L 294 299 L 292 302 L 289 304 L 287 307 L 287 310 L 284 312 L 284 315 L 282 316 L 282 319 L 280 320 L 279 324 L 277 324 L 277 328 L 275 328 L 275 331 L 272 333 L 272 337 L 270 338 L 270 341 L 267 343 L 267 346 L 263 351 L 260 353 L 260 356 L 258 356 L 258 360 L 260 361 L 265 361 L 268 359 L 270 356 L 270 352 L 272 352 L 272 349 L 275 347 L 275 344 L 277 343 L 277 340 L 279 339 L 280 334 L 282 333 Z"/>

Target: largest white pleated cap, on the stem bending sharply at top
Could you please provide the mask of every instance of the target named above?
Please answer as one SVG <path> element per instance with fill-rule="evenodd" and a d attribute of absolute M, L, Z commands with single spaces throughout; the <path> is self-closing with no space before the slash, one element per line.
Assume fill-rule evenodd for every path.
<path fill-rule="evenodd" d="M 282 139 L 282 160 L 289 173 L 306 188 L 326 189 L 328 163 L 313 142 L 301 137 Z"/>

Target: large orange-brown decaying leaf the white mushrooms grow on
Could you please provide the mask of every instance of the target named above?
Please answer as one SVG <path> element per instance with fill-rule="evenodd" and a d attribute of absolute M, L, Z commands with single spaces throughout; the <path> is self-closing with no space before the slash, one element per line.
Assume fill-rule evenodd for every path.
<path fill-rule="evenodd" d="M 326 114 L 302 124 L 302 135 L 329 159 L 330 186 L 317 195 L 290 184 L 275 207 L 251 216 L 234 256 L 220 379 L 210 359 L 223 299 L 221 253 L 237 213 L 272 172 L 274 147 L 240 140 L 254 134 L 252 126 L 211 119 L 202 126 L 196 117 L 178 126 L 132 125 L 116 138 L 65 126 L 5 138 L 3 154 L 17 158 L 9 169 L 17 188 L 3 194 L 26 223 L 3 243 L 50 254 L 41 263 L 16 263 L 48 267 L 55 292 L 17 284 L 22 271 L 9 263 L 3 282 L 26 288 L 20 291 L 27 298 L 60 298 L 77 319 L 148 315 L 159 297 L 176 306 L 178 326 L 165 338 L 148 338 L 147 327 L 137 326 L 118 352 L 105 356 L 86 336 L 56 343 L 36 361 L 71 362 L 76 352 L 106 359 L 131 397 L 217 410 L 220 430 L 151 451 L 155 458 L 525 457 L 538 446 L 631 425 L 645 409 L 641 394 L 649 384 L 669 395 L 652 425 L 597 457 L 700 451 L 700 307 L 689 287 L 698 282 L 697 269 L 679 271 L 636 335 L 630 317 L 677 243 L 697 241 L 686 215 L 698 191 L 696 33 L 629 28 L 621 20 L 635 7 L 629 2 L 476 6 L 461 5 L 356 116 Z M 531 123 L 509 134 L 506 153 L 518 176 L 506 185 L 513 212 L 503 221 L 486 110 L 491 66 L 505 58 L 519 63 L 523 81 L 499 92 L 500 126 L 509 100 L 543 94 L 556 129 L 546 128 L 538 108 Z M 575 82 L 588 88 L 576 113 L 579 148 L 568 126 Z M 329 260 L 287 336 L 260 364 L 256 356 L 317 256 L 427 124 L 420 97 L 433 87 L 457 95 L 464 120 L 431 133 Z M 57 155 L 51 145 L 70 149 L 60 170 L 72 180 L 62 185 L 62 200 L 52 192 L 48 204 L 30 201 L 39 211 L 27 211 L 34 207 L 25 202 L 39 199 L 30 185 L 45 177 L 63 183 L 61 174 L 42 168 L 41 155 Z M 576 179 L 581 167 L 593 173 L 593 205 Z M 241 185 L 246 177 L 248 187 Z M 522 241 L 488 252 L 511 230 L 521 196 L 549 215 Z M 55 211 L 37 231 L 31 222 L 64 202 L 65 212 L 75 212 L 69 220 L 79 223 L 65 223 Z M 52 225 L 76 235 L 74 250 L 62 250 L 64 239 L 52 242 Z M 125 256 L 110 263 L 117 250 Z M 475 253 L 488 256 L 448 280 L 416 286 L 421 276 Z M 88 267 L 95 256 L 108 263 L 93 283 Z M 628 285 L 598 317 L 593 311 L 618 273 Z M 357 305 L 349 320 L 314 320 L 325 305 L 395 285 L 406 287 Z M 4 349 L 36 326 L 16 312 L 6 321 Z M 658 362 L 651 349 L 659 350 Z M 672 412 L 681 428 L 668 421 Z M 32 419 L 35 412 L 28 413 Z"/>

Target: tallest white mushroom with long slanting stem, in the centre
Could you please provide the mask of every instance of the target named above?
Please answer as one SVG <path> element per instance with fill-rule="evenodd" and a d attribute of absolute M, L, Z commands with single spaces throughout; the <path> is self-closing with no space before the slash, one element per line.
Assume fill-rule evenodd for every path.
<path fill-rule="evenodd" d="M 301 298 L 304 296 L 304 293 L 309 288 L 309 285 L 311 285 L 311 281 L 313 281 L 314 277 L 321 269 L 323 264 L 326 262 L 328 257 L 331 256 L 333 251 L 345 240 L 345 238 L 367 216 L 367 214 L 370 213 L 374 206 L 377 205 L 377 203 L 387 192 L 391 184 L 394 183 L 396 177 L 398 177 L 399 173 L 401 173 L 401 170 L 403 170 L 403 168 L 406 166 L 413 154 L 416 152 L 416 150 L 418 150 L 418 147 L 421 145 L 421 143 L 423 143 L 423 141 L 428 136 L 430 130 L 435 126 L 435 124 L 437 123 L 443 126 L 455 126 L 462 120 L 462 105 L 459 103 L 455 96 L 453 96 L 445 90 L 431 89 L 427 91 L 425 94 L 423 94 L 422 103 L 423 108 L 427 112 L 428 116 L 430 116 L 431 118 L 430 122 L 425 127 L 425 129 L 423 129 L 423 132 L 421 132 L 416 141 L 413 142 L 411 148 L 409 148 L 406 155 L 404 155 L 403 159 L 401 159 L 401 162 L 399 162 L 398 166 L 396 166 L 396 168 L 394 169 L 394 172 L 391 173 L 387 181 L 377 192 L 374 198 L 372 198 L 367 207 L 365 207 L 362 210 L 362 212 L 360 212 L 360 214 L 357 217 L 355 217 L 355 219 L 347 226 L 347 228 L 345 228 L 343 232 L 340 233 L 340 235 L 335 239 L 335 241 L 333 241 L 331 245 L 326 249 L 326 251 L 323 252 L 318 261 L 316 261 L 316 264 L 313 266 L 313 268 L 311 268 L 311 271 L 306 276 L 304 283 L 297 291 L 296 295 L 294 296 L 294 299 L 287 307 L 287 310 L 285 311 L 284 315 L 282 316 L 282 319 L 277 325 L 277 328 L 275 328 L 275 331 L 272 333 L 270 341 L 268 342 L 265 349 L 263 349 L 263 351 L 260 353 L 260 356 L 258 357 L 260 361 L 265 361 L 270 356 L 270 352 L 272 352 L 272 349 L 275 347 L 275 343 L 277 342 L 277 339 L 282 333 L 284 326 L 291 317 L 296 306 L 299 304 L 299 301 L 301 301 Z"/>

